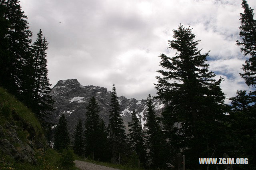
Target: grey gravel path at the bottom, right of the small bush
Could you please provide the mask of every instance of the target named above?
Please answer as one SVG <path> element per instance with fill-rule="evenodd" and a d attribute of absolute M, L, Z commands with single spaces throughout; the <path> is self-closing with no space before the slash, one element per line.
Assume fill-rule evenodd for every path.
<path fill-rule="evenodd" d="M 102 165 L 96 165 L 92 164 L 90 162 L 84 162 L 80 160 L 75 160 L 74 161 L 76 164 L 76 167 L 80 168 L 81 170 L 118 170 L 115 168 L 110 168 Z"/>

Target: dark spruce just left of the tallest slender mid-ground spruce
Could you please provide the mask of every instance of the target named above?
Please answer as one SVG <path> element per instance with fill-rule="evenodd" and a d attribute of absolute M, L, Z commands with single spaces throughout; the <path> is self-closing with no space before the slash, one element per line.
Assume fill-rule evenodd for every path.
<path fill-rule="evenodd" d="M 107 136 L 102 125 L 102 120 L 99 117 L 99 106 L 95 99 L 92 97 L 89 101 L 86 111 L 85 122 L 85 150 L 88 156 L 93 159 L 106 159 L 106 142 Z"/>

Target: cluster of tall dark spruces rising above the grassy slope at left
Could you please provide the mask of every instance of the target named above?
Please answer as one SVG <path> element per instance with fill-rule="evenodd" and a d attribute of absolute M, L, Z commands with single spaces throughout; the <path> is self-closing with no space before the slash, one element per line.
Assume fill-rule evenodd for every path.
<path fill-rule="evenodd" d="M 18 0 L 0 0 L 0 86 L 29 107 L 46 126 L 53 104 L 47 77 L 48 43 L 42 30 L 31 42 L 27 18 Z"/>

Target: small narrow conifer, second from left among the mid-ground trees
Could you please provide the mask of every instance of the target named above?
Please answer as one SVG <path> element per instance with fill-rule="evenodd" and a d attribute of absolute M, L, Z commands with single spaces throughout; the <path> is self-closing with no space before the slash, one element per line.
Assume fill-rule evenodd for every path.
<path fill-rule="evenodd" d="M 73 149 L 74 153 L 77 155 L 82 155 L 84 153 L 84 130 L 82 127 L 81 119 L 78 120 L 76 124 L 76 128 L 73 134 L 74 142 L 73 142 Z"/>

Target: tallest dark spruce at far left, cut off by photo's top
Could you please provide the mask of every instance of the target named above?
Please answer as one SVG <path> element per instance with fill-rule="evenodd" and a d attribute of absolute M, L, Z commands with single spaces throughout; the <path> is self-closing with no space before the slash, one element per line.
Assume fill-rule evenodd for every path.
<path fill-rule="evenodd" d="M 32 33 L 27 16 L 18 0 L 0 0 L 2 23 L 0 51 L 0 85 L 26 104 L 28 75 L 26 66 L 30 57 Z"/>

